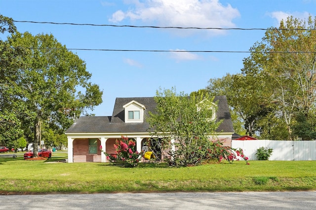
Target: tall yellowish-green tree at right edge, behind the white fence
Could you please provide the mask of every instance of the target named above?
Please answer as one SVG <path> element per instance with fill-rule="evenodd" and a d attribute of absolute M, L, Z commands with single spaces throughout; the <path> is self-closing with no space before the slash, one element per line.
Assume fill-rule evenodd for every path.
<path fill-rule="evenodd" d="M 269 86 L 268 101 L 277 106 L 275 116 L 286 126 L 287 139 L 293 140 L 298 135 L 293 128 L 302 115 L 307 120 L 315 115 L 316 19 L 288 17 L 278 29 L 267 30 L 251 51 L 243 73 L 256 75 L 257 83 Z"/>

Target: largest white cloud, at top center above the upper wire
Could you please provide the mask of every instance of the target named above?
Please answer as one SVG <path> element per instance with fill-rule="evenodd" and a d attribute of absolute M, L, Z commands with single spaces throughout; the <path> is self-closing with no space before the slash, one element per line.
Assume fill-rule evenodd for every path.
<path fill-rule="evenodd" d="M 224 6 L 219 0 L 134 0 L 131 4 L 133 9 L 118 10 L 110 21 L 117 23 L 129 18 L 157 26 L 229 28 L 235 27 L 232 21 L 240 16 L 236 8 Z"/>

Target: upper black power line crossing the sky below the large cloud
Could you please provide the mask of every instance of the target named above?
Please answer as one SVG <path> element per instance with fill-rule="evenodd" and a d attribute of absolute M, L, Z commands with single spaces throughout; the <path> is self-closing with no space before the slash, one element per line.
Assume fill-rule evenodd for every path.
<path fill-rule="evenodd" d="M 13 20 L 17 23 L 37 23 L 37 24 L 55 24 L 55 25 L 74 25 L 74 26 L 103 26 L 103 27 L 129 27 L 129 28 L 156 28 L 156 29 L 199 29 L 199 30 L 243 30 L 243 31 L 270 31 L 270 30 L 283 30 L 283 31 L 316 31 L 316 29 L 277 29 L 277 28 L 200 28 L 200 27 L 174 27 L 174 26 L 133 26 L 133 25 L 110 25 L 110 24 L 88 24 L 88 23 L 55 23 L 55 22 L 37 22 L 37 21 L 18 21 Z"/>

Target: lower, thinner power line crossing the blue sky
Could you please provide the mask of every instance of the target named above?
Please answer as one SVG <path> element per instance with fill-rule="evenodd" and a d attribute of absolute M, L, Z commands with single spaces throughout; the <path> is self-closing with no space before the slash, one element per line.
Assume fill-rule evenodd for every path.
<path fill-rule="evenodd" d="M 80 50 L 80 51 L 119 51 L 119 52 L 192 52 L 192 53 L 316 53 L 316 51 L 230 51 L 230 50 L 129 50 L 129 49 L 88 49 L 88 48 L 43 48 L 43 47 L 9 47 L 16 49 L 38 49 L 38 50 Z"/>

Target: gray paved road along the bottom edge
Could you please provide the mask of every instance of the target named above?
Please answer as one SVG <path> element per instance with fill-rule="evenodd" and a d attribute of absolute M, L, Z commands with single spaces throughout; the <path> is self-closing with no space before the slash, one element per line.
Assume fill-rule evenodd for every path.
<path fill-rule="evenodd" d="M 316 191 L 3 195 L 11 210 L 315 210 Z"/>

